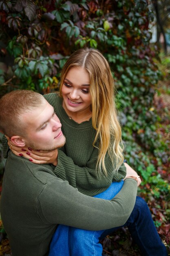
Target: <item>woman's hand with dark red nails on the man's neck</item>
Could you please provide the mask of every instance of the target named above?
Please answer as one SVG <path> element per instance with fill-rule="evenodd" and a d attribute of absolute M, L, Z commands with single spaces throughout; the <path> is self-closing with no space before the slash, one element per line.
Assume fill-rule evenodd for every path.
<path fill-rule="evenodd" d="M 58 150 L 51 150 L 51 151 L 41 151 L 41 150 L 32 150 L 32 148 L 26 147 L 18 147 L 10 140 L 8 136 L 5 135 L 8 140 L 8 146 L 11 151 L 17 156 L 24 156 L 29 159 L 30 162 L 34 164 L 53 164 L 57 165 L 57 156 Z"/>

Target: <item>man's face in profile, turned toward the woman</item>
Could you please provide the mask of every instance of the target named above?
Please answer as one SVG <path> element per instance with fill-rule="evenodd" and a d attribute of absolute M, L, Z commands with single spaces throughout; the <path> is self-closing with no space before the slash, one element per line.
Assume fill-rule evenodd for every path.
<path fill-rule="evenodd" d="M 26 145 L 34 150 L 54 150 L 65 144 L 60 120 L 45 99 L 39 108 L 22 115 L 22 120 L 26 124 Z"/>

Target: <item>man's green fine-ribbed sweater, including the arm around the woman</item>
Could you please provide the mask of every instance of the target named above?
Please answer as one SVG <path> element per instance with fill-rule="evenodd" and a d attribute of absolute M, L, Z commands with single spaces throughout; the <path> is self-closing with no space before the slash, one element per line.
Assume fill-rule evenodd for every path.
<path fill-rule="evenodd" d="M 60 156 L 65 157 L 62 151 Z M 80 193 L 58 178 L 53 168 L 9 151 L 0 213 L 13 256 L 47 256 L 57 224 L 102 230 L 124 225 L 130 216 L 137 194 L 135 180 L 125 180 L 113 200 L 103 200 Z M 70 166 L 59 157 L 58 173 L 63 168 L 69 171 Z"/>

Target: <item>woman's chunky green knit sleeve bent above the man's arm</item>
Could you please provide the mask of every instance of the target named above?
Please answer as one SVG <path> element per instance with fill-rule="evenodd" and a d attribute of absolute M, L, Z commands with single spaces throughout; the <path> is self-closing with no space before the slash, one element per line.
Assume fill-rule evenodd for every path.
<path fill-rule="evenodd" d="M 91 157 L 85 167 L 74 164 L 71 157 L 66 156 L 62 150 L 58 150 L 58 164 L 54 170 L 55 175 L 62 180 L 67 180 L 73 187 L 77 187 L 81 193 L 96 195 L 105 191 L 112 181 L 120 181 L 126 175 L 126 167 L 121 166 L 118 173 L 113 173 L 111 161 L 107 159 L 106 168 L 108 175 L 103 172 L 99 175 L 95 169 L 96 156 Z"/>

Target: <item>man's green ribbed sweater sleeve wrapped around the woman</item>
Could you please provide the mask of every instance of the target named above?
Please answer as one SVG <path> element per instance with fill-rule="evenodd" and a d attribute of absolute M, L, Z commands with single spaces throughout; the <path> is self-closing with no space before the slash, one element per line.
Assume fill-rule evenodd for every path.
<path fill-rule="evenodd" d="M 49 223 L 89 230 L 110 229 L 124 225 L 135 205 L 137 182 L 132 179 L 124 181 L 112 200 L 83 195 L 67 181 L 58 180 L 56 186 L 56 180 L 45 186 L 38 199 L 41 214 Z"/>

